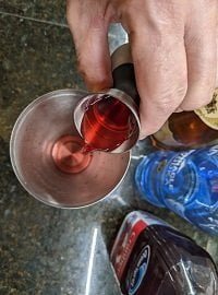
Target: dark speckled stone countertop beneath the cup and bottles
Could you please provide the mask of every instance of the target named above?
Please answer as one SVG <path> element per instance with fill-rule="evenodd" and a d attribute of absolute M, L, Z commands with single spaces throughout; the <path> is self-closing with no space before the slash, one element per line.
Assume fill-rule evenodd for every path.
<path fill-rule="evenodd" d="M 27 2 L 0 1 L 0 294 L 120 294 L 108 251 L 123 217 L 138 206 L 194 238 L 218 262 L 217 238 L 168 210 L 138 201 L 133 175 L 138 155 L 152 149 L 148 141 L 133 150 L 122 185 L 110 198 L 87 209 L 49 208 L 21 187 L 9 156 L 10 134 L 19 114 L 52 90 L 84 88 L 69 30 L 37 21 L 64 24 L 64 1 Z"/>

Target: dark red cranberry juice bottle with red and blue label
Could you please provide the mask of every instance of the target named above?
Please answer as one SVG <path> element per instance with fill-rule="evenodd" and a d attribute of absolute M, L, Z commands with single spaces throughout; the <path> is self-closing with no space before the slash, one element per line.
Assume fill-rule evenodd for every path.
<path fill-rule="evenodd" d="M 128 214 L 110 260 L 123 295 L 217 295 L 211 257 L 190 237 L 148 214 Z"/>

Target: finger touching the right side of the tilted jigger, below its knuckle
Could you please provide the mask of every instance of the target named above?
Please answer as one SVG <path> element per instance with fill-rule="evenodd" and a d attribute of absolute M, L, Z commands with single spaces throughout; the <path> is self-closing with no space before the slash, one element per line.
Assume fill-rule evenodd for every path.
<path fill-rule="evenodd" d="M 161 36 L 152 28 L 132 32 L 132 57 L 141 96 L 141 139 L 156 132 L 186 93 L 183 38 Z"/>

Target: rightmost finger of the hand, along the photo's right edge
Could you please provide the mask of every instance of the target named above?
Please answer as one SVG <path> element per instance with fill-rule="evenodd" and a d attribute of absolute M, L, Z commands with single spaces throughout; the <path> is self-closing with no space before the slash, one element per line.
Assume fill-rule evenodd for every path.
<path fill-rule="evenodd" d="M 187 92 L 180 105 L 183 110 L 199 108 L 211 101 L 216 86 L 217 44 L 216 25 L 217 8 L 207 5 L 202 12 L 201 5 L 194 8 L 189 17 L 184 34 L 187 60 Z M 201 15 L 201 21 L 199 21 Z"/>

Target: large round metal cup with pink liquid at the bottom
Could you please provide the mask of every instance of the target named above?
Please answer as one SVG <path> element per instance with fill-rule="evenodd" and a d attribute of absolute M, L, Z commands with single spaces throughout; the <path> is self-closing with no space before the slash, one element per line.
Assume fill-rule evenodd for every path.
<path fill-rule="evenodd" d="M 11 135 L 13 169 L 36 199 L 58 208 L 93 204 L 122 180 L 130 153 L 82 153 L 72 113 L 86 92 L 61 90 L 35 99 L 20 115 Z"/>

